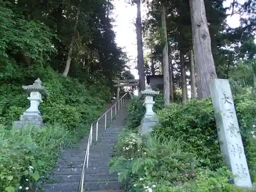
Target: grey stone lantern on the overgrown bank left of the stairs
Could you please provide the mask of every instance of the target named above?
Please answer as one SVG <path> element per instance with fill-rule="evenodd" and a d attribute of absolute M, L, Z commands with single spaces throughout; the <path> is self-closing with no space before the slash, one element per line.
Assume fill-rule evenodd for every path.
<path fill-rule="evenodd" d="M 45 95 L 46 89 L 41 86 L 41 80 L 38 78 L 30 86 L 22 86 L 22 88 L 30 94 L 30 107 L 20 116 L 19 121 L 14 121 L 13 126 L 20 128 L 24 126 L 34 125 L 38 128 L 43 126 L 41 113 L 38 110 L 39 104 L 42 102 L 42 95 Z"/>

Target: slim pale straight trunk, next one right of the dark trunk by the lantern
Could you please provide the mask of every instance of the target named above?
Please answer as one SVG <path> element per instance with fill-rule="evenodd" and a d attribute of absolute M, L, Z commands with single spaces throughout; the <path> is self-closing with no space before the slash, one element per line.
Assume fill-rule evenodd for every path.
<path fill-rule="evenodd" d="M 163 28 L 163 101 L 164 105 L 170 104 L 170 84 L 169 84 L 169 62 L 168 62 L 168 44 L 166 32 L 165 6 L 162 5 L 162 28 Z"/>

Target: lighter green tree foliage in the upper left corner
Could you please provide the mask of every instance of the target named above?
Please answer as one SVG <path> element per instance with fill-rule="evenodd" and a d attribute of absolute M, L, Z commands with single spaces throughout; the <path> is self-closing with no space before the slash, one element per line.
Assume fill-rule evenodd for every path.
<path fill-rule="evenodd" d="M 50 40 L 54 35 L 48 27 L 14 13 L 8 8 L 7 2 L 1 1 L 0 5 L 0 31 L 4 31 L 0 39 L 0 59 L 8 58 L 10 50 L 12 55 L 25 53 L 26 56 L 38 60 L 41 60 L 41 53 L 55 51 Z M 49 58 L 47 54 L 44 56 Z"/>

